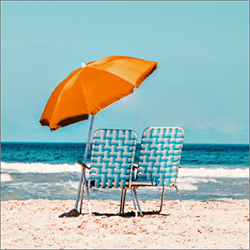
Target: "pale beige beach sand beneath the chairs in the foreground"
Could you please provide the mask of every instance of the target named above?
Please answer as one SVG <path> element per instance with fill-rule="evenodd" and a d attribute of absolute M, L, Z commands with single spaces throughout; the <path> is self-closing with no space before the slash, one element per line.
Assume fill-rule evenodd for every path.
<path fill-rule="evenodd" d="M 86 200 L 78 217 L 58 216 L 74 200 L 1 202 L 1 249 L 249 249 L 249 202 L 164 201 L 161 214 L 135 218 L 132 201 L 118 216 L 119 202 Z M 160 201 L 140 202 L 142 211 Z"/>

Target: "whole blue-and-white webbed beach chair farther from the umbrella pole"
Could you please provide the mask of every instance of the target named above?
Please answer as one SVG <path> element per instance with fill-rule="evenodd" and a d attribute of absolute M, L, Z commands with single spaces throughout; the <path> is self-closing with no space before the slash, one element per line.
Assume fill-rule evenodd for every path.
<path fill-rule="evenodd" d="M 141 215 L 141 208 L 137 198 L 138 187 L 159 187 L 162 186 L 161 205 L 158 213 L 162 211 L 165 187 L 174 187 L 179 197 L 183 212 L 185 208 L 177 188 L 178 170 L 183 146 L 184 131 L 179 127 L 149 127 L 142 134 L 141 149 L 137 174 L 131 179 L 131 189 L 136 216 Z M 121 212 L 124 212 L 126 193 L 121 202 Z M 137 202 L 137 206 L 136 203 Z M 138 207 L 138 208 L 137 208 Z"/>

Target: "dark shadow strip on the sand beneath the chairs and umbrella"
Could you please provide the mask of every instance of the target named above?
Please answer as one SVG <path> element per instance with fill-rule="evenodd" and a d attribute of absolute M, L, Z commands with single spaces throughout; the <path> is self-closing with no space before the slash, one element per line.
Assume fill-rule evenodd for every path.
<path fill-rule="evenodd" d="M 143 213 L 143 215 L 170 216 L 170 214 L 163 214 L 163 213 L 159 213 L 158 211 L 142 211 L 142 213 Z M 59 218 L 63 218 L 63 217 L 78 217 L 80 215 L 86 215 L 86 214 L 89 214 L 89 213 L 80 214 L 77 210 L 72 209 L 68 213 L 63 213 L 63 214 L 59 215 Z M 120 216 L 120 217 L 125 217 L 125 218 L 135 217 L 135 212 L 134 211 L 126 212 L 126 213 L 123 213 L 123 214 L 98 213 L 98 212 L 92 212 L 92 214 L 94 216 L 107 216 L 107 217 L 113 217 L 113 216 Z M 142 217 L 140 214 L 138 214 L 138 216 Z"/>

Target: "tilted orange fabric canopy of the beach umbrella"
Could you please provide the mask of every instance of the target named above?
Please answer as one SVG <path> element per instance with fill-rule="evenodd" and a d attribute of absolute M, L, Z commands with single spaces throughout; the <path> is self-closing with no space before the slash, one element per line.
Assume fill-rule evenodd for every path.
<path fill-rule="evenodd" d="M 71 72 L 51 94 L 40 123 L 51 130 L 86 120 L 133 93 L 157 69 L 157 63 L 111 56 Z"/>

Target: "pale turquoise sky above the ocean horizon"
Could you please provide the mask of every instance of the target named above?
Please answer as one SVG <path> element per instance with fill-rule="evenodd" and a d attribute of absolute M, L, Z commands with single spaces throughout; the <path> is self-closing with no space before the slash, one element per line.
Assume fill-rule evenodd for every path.
<path fill-rule="evenodd" d="M 93 130 L 182 127 L 184 143 L 249 144 L 248 1 L 1 1 L 1 141 L 86 142 L 44 107 L 70 72 L 107 56 L 158 63 Z"/>

